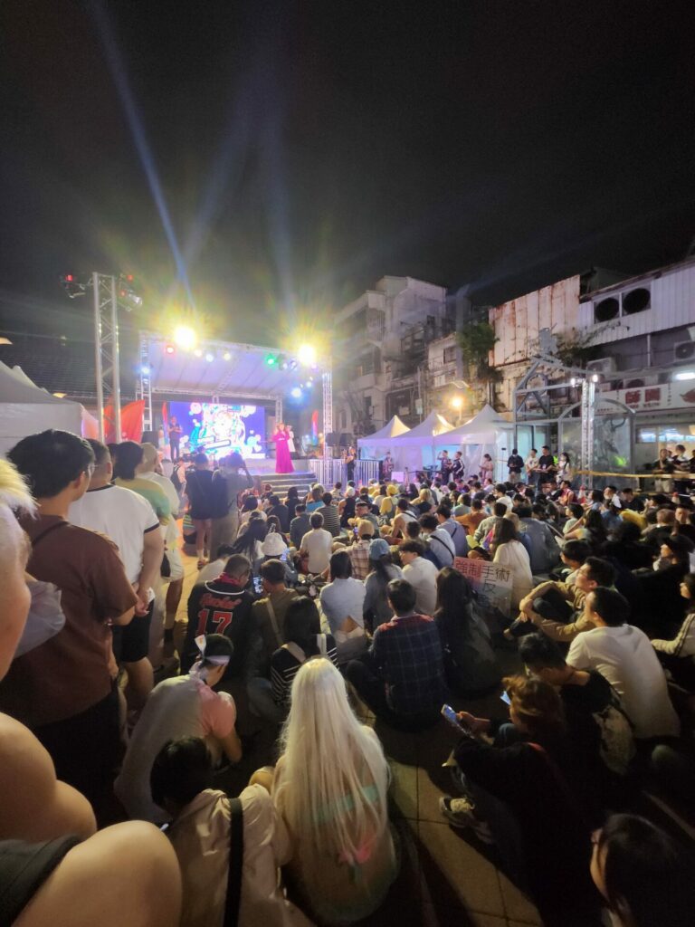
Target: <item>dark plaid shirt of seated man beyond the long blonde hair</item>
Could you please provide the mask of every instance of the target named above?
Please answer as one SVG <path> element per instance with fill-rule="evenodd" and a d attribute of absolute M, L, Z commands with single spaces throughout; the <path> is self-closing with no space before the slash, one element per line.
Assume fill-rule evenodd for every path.
<path fill-rule="evenodd" d="M 392 618 L 374 631 L 371 653 L 385 681 L 391 709 L 408 715 L 442 704 L 447 684 L 434 618 Z"/>

